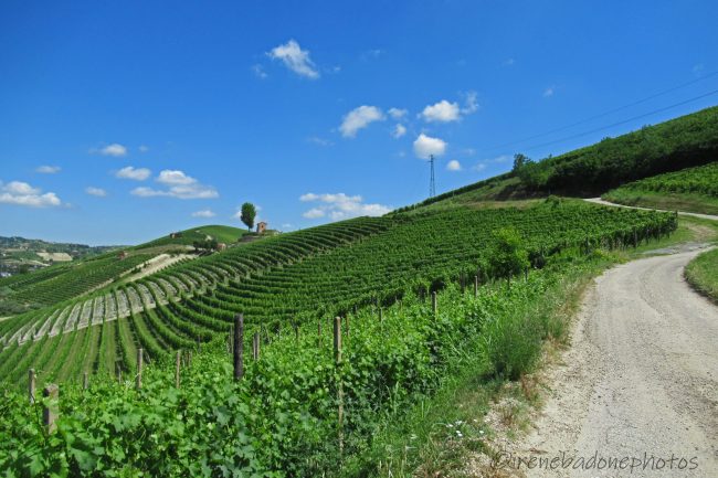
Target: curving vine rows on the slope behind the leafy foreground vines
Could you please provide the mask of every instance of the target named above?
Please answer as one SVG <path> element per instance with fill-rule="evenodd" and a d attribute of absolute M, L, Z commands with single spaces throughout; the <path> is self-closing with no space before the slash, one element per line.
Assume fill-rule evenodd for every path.
<path fill-rule="evenodd" d="M 477 268 L 492 277 L 486 259 L 493 231 L 504 226 L 527 240 L 540 266 L 567 249 L 666 234 L 675 217 L 567 202 L 362 217 L 284 234 L 170 267 L 102 297 L 0 322 L 0 378 L 19 383 L 30 367 L 42 371 L 41 381 L 60 382 L 117 364 L 130 370 L 137 348 L 161 360 L 225 333 L 236 312 L 270 334 L 473 277 Z"/>

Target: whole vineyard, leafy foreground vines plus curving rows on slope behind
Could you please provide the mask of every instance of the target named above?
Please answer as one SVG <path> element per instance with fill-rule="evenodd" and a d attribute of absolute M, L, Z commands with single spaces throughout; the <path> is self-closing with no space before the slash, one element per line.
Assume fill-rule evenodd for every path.
<path fill-rule="evenodd" d="M 507 226 L 532 269 L 510 287 L 492 262 L 494 231 Z M 23 317 L 47 330 L 77 316 L 66 333 L 19 344 L 13 329 L 23 327 L 0 322 L 11 338 L 0 353 L 9 385 L 0 467 L 19 476 L 275 477 L 337 475 L 344 461 L 347 475 L 372 475 L 365 458 L 378 424 L 431 394 L 467 353 L 482 351 L 487 373 L 529 367 L 551 327 L 529 310 L 574 262 L 675 226 L 673 214 L 558 201 L 365 217 L 180 264 L 70 312 Z M 243 342 L 255 336 L 256 344 L 245 347 L 241 381 L 231 380 L 226 341 L 236 312 Z M 136 390 L 140 348 L 154 367 Z M 30 368 L 39 386 L 63 389 L 52 440 L 33 418 L 43 402 L 29 406 L 10 391 L 27 386 Z M 82 390 L 86 371 L 95 375 Z"/>

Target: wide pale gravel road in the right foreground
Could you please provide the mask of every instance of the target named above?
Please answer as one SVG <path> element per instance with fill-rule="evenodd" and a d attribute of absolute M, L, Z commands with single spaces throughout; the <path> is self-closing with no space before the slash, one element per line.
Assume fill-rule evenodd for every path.
<path fill-rule="evenodd" d="M 564 367 L 549 372 L 536 429 L 510 450 L 577 461 L 528 477 L 718 477 L 718 308 L 683 279 L 699 252 L 634 261 L 596 279 Z M 596 452 L 615 467 L 599 470 L 599 459 L 571 469 Z"/>

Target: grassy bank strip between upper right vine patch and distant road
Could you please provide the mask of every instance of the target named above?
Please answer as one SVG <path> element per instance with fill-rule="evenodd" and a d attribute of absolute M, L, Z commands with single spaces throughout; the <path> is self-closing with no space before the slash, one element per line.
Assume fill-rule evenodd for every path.
<path fill-rule="evenodd" d="M 609 191 L 602 198 L 617 204 L 718 215 L 718 199 L 703 194 L 661 193 L 619 188 Z"/>

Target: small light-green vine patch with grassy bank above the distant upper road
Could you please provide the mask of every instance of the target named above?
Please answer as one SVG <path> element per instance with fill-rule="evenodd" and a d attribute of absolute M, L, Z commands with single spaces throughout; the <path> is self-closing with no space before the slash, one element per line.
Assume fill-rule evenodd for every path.
<path fill-rule="evenodd" d="M 687 168 L 630 182 L 603 194 L 619 204 L 718 215 L 718 158 Z"/>

